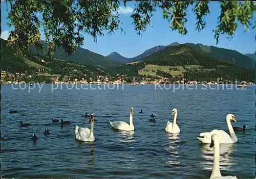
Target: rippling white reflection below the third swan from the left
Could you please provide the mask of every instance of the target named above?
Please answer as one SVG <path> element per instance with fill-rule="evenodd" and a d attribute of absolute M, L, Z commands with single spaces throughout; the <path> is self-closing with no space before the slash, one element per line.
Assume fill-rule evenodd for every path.
<path fill-rule="evenodd" d="M 180 137 L 179 134 L 169 134 L 167 133 L 167 142 L 168 145 L 164 148 L 170 156 L 167 158 L 167 162 L 165 162 L 168 165 L 179 165 L 180 162 L 177 161 L 177 159 L 180 157 L 179 155 L 179 143 L 180 143 Z M 177 166 L 178 167 L 178 166 Z"/>

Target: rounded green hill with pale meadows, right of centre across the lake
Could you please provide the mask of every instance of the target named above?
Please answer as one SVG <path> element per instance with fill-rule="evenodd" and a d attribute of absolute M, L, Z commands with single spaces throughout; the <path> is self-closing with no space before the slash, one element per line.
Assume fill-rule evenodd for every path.
<path fill-rule="evenodd" d="M 147 56 L 136 64 L 126 64 L 113 68 L 115 72 L 126 75 L 139 75 L 137 70 L 146 70 L 148 65 L 158 65 L 156 75 L 172 78 L 173 75 L 186 78 L 187 80 L 225 80 L 251 81 L 254 82 L 255 70 L 239 67 L 232 63 L 216 60 L 206 53 L 201 54 L 193 47 L 185 44 L 168 46 L 151 56 Z M 159 68 L 164 66 L 164 68 Z M 169 69 L 168 67 L 177 67 Z M 178 69 L 182 67 L 183 69 Z M 178 73 L 179 71 L 179 73 Z M 174 74 L 174 72 L 176 74 Z M 141 73 L 140 73 L 141 74 Z M 147 76 L 149 74 L 144 74 Z"/>

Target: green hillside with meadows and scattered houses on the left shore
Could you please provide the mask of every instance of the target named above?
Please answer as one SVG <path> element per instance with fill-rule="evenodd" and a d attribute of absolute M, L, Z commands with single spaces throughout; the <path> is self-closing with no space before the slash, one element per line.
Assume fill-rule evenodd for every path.
<path fill-rule="evenodd" d="M 6 46 L 6 40 L 1 39 L 1 42 L 1 70 L 8 73 L 25 73 L 25 76 L 33 74 L 37 78 L 43 78 L 44 81 L 59 76 L 66 78 L 69 76 L 78 79 L 92 77 L 96 79 L 97 75 L 112 75 L 111 71 L 104 68 L 83 65 L 72 61 L 55 58 L 49 59 L 32 54 L 27 58 L 16 56 L 14 55 L 15 52 Z"/>

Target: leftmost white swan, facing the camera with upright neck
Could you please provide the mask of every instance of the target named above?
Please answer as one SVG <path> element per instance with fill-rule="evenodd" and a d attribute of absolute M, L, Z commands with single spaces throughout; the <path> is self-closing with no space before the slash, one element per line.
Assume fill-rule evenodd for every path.
<path fill-rule="evenodd" d="M 75 135 L 76 139 L 83 142 L 93 142 L 95 140 L 93 135 L 93 124 L 94 124 L 94 114 L 91 114 L 91 130 L 88 127 L 78 127 L 76 125 Z"/>

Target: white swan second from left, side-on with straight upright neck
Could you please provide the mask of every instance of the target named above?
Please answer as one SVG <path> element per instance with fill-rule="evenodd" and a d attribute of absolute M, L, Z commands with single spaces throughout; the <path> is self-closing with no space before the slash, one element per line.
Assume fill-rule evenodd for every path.
<path fill-rule="evenodd" d="M 116 129 L 121 131 L 134 131 L 134 125 L 133 125 L 133 108 L 130 108 L 130 125 L 123 121 L 110 121 L 110 125 Z"/>

